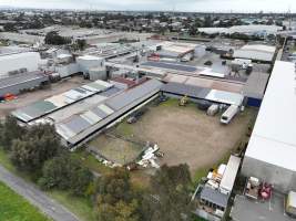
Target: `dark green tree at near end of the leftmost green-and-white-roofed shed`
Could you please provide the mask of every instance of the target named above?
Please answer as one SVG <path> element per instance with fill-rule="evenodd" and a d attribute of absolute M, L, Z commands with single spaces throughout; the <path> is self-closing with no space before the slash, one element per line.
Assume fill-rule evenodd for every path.
<path fill-rule="evenodd" d="M 51 125 L 38 125 L 12 141 L 11 160 L 21 170 L 38 172 L 44 161 L 62 149 L 60 138 Z"/>

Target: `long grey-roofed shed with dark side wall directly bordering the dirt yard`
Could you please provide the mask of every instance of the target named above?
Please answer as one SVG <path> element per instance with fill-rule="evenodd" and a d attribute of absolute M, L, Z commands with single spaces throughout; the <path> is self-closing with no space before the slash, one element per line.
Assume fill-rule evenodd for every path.
<path fill-rule="evenodd" d="M 162 83 L 150 80 L 115 96 L 99 102 L 92 108 L 55 124 L 57 133 L 70 148 L 84 144 L 101 130 L 120 122 L 139 106 L 157 96 Z"/>

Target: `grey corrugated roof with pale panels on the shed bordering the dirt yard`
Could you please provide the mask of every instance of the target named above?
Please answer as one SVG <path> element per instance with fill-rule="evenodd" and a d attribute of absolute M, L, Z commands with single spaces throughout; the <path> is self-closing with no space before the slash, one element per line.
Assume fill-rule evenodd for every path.
<path fill-rule="evenodd" d="M 135 105 L 139 105 L 144 99 L 147 99 L 152 93 L 156 94 L 161 85 L 162 83 L 159 82 L 157 80 L 151 80 L 132 90 L 124 91 L 122 92 L 122 94 L 119 94 L 114 97 L 110 97 L 109 101 L 103 102 L 99 104 L 96 107 L 93 107 L 90 110 L 80 114 L 79 117 L 81 119 L 72 119 L 71 117 L 64 123 L 61 122 L 57 126 L 58 128 L 57 131 L 68 141 L 75 144 L 81 139 L 83 139 L 85 136 L 88 136 L 90 133 L 93 133 L 98 128 L 104 126 L 105 124 L 111 123 L 116 117 L 122 115 L 124 112 L 133 108 Z M 116 104 L 116 102 L 120 102 L 120 104 Z M 116 107 L 118 105 L 120 105 L 123 109 L 113 110 L 112 109 L 113 107 L 109 106 L 109 103 L 114 104 Z M 74 123 L 70 123 L 73 120 Z M 82 123 L 83 126 L 74 128 L 76 124 L 80 124 L 80 120 L 88 122 L 89 126 L 86 127 L 86 124 L 84 122 Z"/>

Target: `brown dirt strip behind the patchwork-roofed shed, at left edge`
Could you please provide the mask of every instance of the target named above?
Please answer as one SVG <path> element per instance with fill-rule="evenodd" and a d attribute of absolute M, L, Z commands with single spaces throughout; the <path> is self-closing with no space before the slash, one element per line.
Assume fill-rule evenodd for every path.
<path fill-rule="evenodd" d="M 71 90 L 73 87 L 86 84 L 89 81 L 83 80 L 81 76 L 74 76 L 69 80 L 63 80 L 61 82 L 51 84 L 51 87 L 45 90 L 38 90 L 34 92 L 28 92 L 24 94 L 18 95 L 18 98 L 14 101 L 0 103 L 0 119 L 8 115 L 10 112 L 24 107 L 31 103 L 34 103 L 40 99 L 45 99 L 50 96 L 61 94 Z"/>

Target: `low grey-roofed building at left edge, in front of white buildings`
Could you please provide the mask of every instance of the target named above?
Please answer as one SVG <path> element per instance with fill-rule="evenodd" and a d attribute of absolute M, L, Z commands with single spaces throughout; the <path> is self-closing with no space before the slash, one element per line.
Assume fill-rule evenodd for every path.
<path fill-rule="evenodd" d="M 49 77 L 41 72 L 29 72 L 4 77 L 0 81 L 0 97 L 7 94 L 18 95 L 24 90 L 31 90 L 48 82 Z"/>

